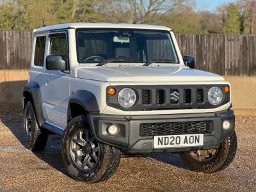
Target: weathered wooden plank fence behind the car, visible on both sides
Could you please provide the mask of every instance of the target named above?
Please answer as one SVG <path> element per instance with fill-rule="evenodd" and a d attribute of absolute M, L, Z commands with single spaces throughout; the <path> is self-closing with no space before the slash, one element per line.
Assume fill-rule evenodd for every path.
<path fill-rule="evenodd" d="M 196 68 L 222 76 L 256 76 L 256 35 L 176 35 Z M 33 33 L 0 31 L 0 70 L 28 69 Z"/>

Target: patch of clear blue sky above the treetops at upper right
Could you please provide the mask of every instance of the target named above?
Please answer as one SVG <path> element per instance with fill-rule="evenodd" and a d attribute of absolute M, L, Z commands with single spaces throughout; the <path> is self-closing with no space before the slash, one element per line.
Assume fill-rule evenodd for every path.
<path fill-rule="evenodd" d="M 234 1 L 235 0 L 196 0 L 196 10 L 214 11 L 221 4 L 230 3 Z"/>

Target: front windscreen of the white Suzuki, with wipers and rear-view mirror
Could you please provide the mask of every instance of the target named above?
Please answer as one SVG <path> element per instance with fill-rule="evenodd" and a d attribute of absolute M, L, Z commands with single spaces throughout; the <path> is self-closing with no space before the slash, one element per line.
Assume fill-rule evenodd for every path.
<path fill-rule="evenodd" d="M 169 31 L 77 29 L 76 44 L 79 63 L 104 60 L 179 63 Z"/>

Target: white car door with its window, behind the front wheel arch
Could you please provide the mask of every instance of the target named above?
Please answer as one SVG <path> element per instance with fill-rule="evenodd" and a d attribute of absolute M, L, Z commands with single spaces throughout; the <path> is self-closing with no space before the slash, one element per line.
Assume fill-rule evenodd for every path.
<path fill-rule="evenodd" d="M 45 122 L 60 129 L 65 129 L 67 125 L 68 98 L 70 96 L 68 32 L 49 33 L 47 37 L 47 56 L 63 56 L 67 63 L 67 70 L 58 71 L 45 68 L 43 112 Z"/>

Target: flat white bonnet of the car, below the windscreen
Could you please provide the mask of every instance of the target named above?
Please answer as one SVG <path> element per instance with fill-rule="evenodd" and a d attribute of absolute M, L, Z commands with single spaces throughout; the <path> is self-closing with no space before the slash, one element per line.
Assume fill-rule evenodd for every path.
<path fill-rule="evenodd" d="M 76 68 L 76 77 L 106 82 L 223 81 L 223 77 L 180 66 L 101 66 Z"/>

